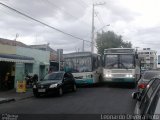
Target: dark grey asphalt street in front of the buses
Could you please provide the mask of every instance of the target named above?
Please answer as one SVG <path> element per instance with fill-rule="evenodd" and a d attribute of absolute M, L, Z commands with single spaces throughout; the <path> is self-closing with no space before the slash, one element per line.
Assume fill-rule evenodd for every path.
<path fill-rule="evenodd" d="M 132 114 L 135 101 L 131 98 L 134 89 L 117 87 L 78 88 L 76 93 L 62 97 L 28 98 L 0 105 L 1 113 L 25 114 Z"/>

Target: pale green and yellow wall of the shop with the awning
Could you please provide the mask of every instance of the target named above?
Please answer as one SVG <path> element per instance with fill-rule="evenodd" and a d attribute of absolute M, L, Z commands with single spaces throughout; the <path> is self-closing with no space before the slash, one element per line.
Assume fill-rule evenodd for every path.
<path fill-rule="evenodd" d="M 9 46 L 0 44 L 0 54 L 17 54 L 35 59 L 33 63 L 33 74 L 43 76 L 48 73 L 50 52 L 42 51 L 31 48 L 24 48 L 19 46 Z M 43 66 L 43 73 L 40 75 L 40 66 Z M 15 87 L 18 80 L 24 80 L 25 78 L 25 63 L 15 63 Z"/>

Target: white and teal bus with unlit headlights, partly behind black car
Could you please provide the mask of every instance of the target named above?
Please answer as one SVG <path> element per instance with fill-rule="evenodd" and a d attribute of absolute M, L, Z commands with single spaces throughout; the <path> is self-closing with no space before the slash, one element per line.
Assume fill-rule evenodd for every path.
<path fill-rule="evenodd" d="M 64 54 L 64 69 L 70 71 L 77 84 L 95 84 L 102 74 L 101 56 L 92 52 Z"/>

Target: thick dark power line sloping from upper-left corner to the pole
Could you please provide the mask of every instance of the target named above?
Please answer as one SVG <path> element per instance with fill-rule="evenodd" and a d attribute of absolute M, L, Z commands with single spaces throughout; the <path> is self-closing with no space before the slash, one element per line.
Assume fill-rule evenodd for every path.
<path fill-rule="evenodd" d="M 27 15 L 27 14 L 24 14 L 24 13 L 22 13 L 22 12 L 16 10 L 16 9 L 10 7 L 10 6 L 7 6 L 7 5 L 3 4 L 2 2 L 0 2 L 0 4 L 1 4 L 2 6 L 4 6 L 4 7 L 8 8 L 8 9 L 10 9 L 10 10 L 18 13 L 18 14 L 21 14 L 22 16 L 25 16 L 25 17 L 33 20 L 33 21 L 36 21 L 36 22 L 38 22 L 38 23 L 40 23 L 40 24 L 42 24 L 42 25 L 44 25 L 44 26 L 47 26 L 47 27 L 49 27 L 49 28 L 51 28 L 51 29 L 54 29 L 54 30 L 56 30 L 56 31 L 58 31 L 58 32 L 61 32 L 61 33 L 65 34 L 65 35 L 68 35 L 68 36 L 70 36 L 70 37 L 73 37 L 73 38 L 76 38 L 76 39 L 79 39 L 79 40 L 84 40 L 84 41 L 86 41 L 86 42 L 92 43 L 92 42 L 90 42 L 90 41 L 88 41 L 88 40 L 82 39 L 82 38 L 77 37 L 77 36 L 74 36 L 74 35 L 72 35 L 72 34 L 70 34 L 70 33 L 64 32 L 64 31 L 62 31 L 62 30 L 60 30 L 60 29 L 58 29 L 58 28 L 55 28 L 55 27 L 53 27 L 53 26 L 50 26 L 50 25 L 48 25 L 48 24 L 46 24 L 46 23 L 44 23 L 44 22 L 42 22 L 42 21 L 40 21 L 40 20 L 37 20 L 37 19 L 35 19 L 35 18 Z M 92 43 L 92 44 L 93 44 L 93 43 Z"/>

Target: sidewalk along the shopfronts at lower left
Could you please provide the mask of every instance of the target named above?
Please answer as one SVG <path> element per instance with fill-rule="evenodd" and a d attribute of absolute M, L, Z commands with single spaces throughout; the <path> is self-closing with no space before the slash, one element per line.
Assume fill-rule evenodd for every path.
<path fill-rule="evenodd" d="M 17 93 L 15 89 L 9 91 L 0 91 L 0 104 L 18 101 L 33 97 L 32 89 L 28 89 L 25 93 Z"/>

